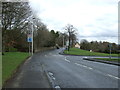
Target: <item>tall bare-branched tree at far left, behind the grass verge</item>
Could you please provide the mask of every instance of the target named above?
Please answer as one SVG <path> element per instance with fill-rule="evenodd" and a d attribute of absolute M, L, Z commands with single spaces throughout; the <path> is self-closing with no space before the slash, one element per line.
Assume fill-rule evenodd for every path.
<path fill-rule="evenodd" d="M 2 2 L 3 51 L 6 45 L 9 44 L 11 47 L 14 47 L 26 36 L 26 30 L 28 28 L 26 21 L 30 16 L 31 8 L 28 2 Z M 26 40 L 26 37 L 24 40 Z M 26 43 L 23 42 L 21 46 L 24 47 L 26 46 L 25 44 Z M 17 46 L 15 47 L 18 48 Z"/>

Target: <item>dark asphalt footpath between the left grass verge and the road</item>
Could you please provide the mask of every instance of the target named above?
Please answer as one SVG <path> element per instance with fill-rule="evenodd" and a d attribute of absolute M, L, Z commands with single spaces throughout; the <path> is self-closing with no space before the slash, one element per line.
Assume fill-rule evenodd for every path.
<path fill-rule="evenodd" d="M 44 65 L 40 63 L 42 54 L 37 53 L 30 57 L 11 78 L 5 88 L 51 88 L 45 74 Z"/>

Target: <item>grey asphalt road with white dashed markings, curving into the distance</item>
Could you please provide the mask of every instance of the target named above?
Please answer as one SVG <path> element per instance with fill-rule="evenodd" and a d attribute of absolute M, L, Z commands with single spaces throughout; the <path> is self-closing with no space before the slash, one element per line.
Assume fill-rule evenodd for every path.
<path fill-rule="evenodd" d="M 39 64 L 41 64 L 54 85 L 60 88 L 118 88 L 120 80 L 118 66 L 83 60 L 85 56 L 60 55 L 59 52 L 62 50 L 55 49 L 36 53 L 29 62 L 34 63 L 36 71 L 39 71 Z M 22 77 L 20 82 L 22 87 L 25 86 L 22 83 L 28 80 L 29 74 L 26 74 L 27 78 Z M 31 82 L 38 81 L 39 76 L 36 73 L 32 78 Z M 32 82 L 32 86 L 30 86 L 30 82 L 26 82 L 26 85 L 36 87 L 39 86 L 39 83 Z"/>

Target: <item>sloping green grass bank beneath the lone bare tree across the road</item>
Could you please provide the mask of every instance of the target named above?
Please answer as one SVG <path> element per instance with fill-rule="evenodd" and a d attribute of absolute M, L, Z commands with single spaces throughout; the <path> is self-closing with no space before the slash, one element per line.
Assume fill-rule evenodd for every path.
<path fill-rule="evenodd" d="M 71 55 L 82 55 L 82 56 L 109 56 L 109 54 L 107 53 L 90 52 L 78 48 L 70 48 L 70 51 L 65 50 L 64 53 Z M 111 56 L 117 57 L 118 54 L 111 54 Z"/>

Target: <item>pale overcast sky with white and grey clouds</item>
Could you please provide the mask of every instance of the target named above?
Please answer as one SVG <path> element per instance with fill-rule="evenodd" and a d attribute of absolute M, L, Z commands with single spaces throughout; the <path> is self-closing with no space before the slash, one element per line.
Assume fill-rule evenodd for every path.
<path fill-rule="evenodd" d="M 72 24 L 77 37 L 118 43 L 119 0 L 30 0 L 33 10 L 49 30 L 63 32 Z"/>

